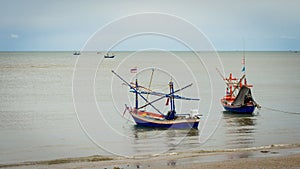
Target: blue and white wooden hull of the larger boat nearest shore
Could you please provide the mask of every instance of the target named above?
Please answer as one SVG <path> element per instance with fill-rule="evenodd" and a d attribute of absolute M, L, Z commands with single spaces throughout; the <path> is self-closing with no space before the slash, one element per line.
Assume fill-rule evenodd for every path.
<path fill-rule="evenodd" d="M 174 129 L 198 129 L 200 119 L 189 118 L 180 120 L 165 120 L 158 117 L 142 116 L 130 113 L 137 125 L 143 127 L 174 128 Z"/>

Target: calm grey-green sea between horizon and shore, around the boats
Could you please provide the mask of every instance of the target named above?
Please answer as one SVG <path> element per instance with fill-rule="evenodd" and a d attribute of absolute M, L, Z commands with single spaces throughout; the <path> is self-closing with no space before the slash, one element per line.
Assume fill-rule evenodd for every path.
<path fill-rule="evenodd" d="M 300 53 L 246 52 L 247 80 L 254 85 L 254 99 L 262 106 L 253 115 L 223 112 L 220 102 L 212 101 L 222 97 L 214 91 L 225 89 L 225 84 L 211 84 L 210 79 L 221 78 L 209 74 L 205 67 L 214 65 L 195 59 L 195 53 L 115 54 L 114 59 L 103 60 L 103 54 L 88 54 L 100 58 L 97 70 L 92 71 L 94 93 L 90 95 L 98 110 L 92 114 L 92 108 L 80 108 L 80 104 L 90 102 L 85 97 L 88 91 L 73 90 L 73 85 L 84 89 L 87 81 L 80 77 L 80 84 L 72 83 L 77 59 L 72 52 L 1 52 L 0 164 L 95 154 L 238 150 L 300 142 Z M 219 56 L 226 75 L 232 72 L 241 76 L 242 52 L 220 52 Z M 124 104 L 132 105 L 133 97 L 111 70 L 133 81 L 135 74 L 129 69 L 135 66 L 145 87 L 155 68 L 153 90 L 167 92 L 170 75 L 176 88 L 193 83 L 180 94 L 200 97 L 201 101 L 176 101 L 176 108 L 182 112 L 198 109 L 202 114 L 199 130 L 138 128 L 127 113 L 123 116 Z M 80 70 L 89 68 L 83 65 Z M 168 108 L 165 100 L 156 106 L 162 111 Z"/>

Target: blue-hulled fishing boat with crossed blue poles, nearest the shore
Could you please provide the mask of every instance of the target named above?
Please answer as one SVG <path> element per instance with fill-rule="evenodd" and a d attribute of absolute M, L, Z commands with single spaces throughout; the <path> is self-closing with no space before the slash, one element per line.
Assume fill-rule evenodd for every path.
<path fill-rule="evenodd" d="M 154 92 L 150 89 L 140 86 L 137 79 L 135 80 L 135 82 L 128 83 L 115 71 L 112 70 L 112 73 L 115 74 L 121 81 L 123 81 L 123 84 L 126 84 L 130 88 L 130 92 L 135 94 L 135 106 L 129 107 L 125 105 L 124 113 L 128 111 L 137 126 L 152 128 L 198 129 L 201 115 L 198 114 L 197 110 L 191 110 L 191 112 L 185 114 L 178 114 L 175 109 L 175 99 L 195 101 L 200 100 L 197 98 L 188 98 L 175 94 L 192 86 L 192 84 L 174 90 L 174 84 L 172 80 L 170 80 L 170 82 L 168 83 L 170 93 Z M 158 98 L 150 101 L 146 98 L 147 96 L 145 95 L 154 95 Z M 166 105 L 170 103 L 170 110 L 166 113 L 161 112 L 157 107 L 153 105 L 153 103 L 164 98 L 167 98 Z M 145 104 L 140 106 L 139 99 L 145 101 Z M 151 106 L 156 112 L 146 111 L 144 109 L 146 106 Z"/>

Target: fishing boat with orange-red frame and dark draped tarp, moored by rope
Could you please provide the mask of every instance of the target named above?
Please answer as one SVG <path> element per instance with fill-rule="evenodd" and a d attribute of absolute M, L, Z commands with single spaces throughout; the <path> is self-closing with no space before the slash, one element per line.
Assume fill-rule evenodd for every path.
<path fill-rule="evenodd" d="M 228 78 L 225 78 L 217 69 L 222 79 L 226 84 L 226 95 L 221 98 L 221 104 L 224 109 L 233 113 L 252 114 L 255 107 L 260 106 L 254 101 L 251 88 L 253 85 L 247 83 L 245 74 L 245 58 L 243 58 L 244 67 L 242 71 L 244 74 L 241 78 L 232 77 L 232 73 Z"/>

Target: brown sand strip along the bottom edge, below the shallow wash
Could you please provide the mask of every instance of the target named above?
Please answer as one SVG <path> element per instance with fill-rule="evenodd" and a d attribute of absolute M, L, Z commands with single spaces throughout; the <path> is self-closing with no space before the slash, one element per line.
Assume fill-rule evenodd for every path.
<path fill-rule="evenodd" d="M 160 162 L 158 162 L 160 163 Z M 167 165 L 158 166 L 153 161 L 151 164 L 145 164 L 141 161 L 124 161 L 120 162 L 75 162 L 68 164 L 52 164 L 52 165 L 21 165 L 15 167 L 4 167 L 4 168 L 99 168 L 99 169 L 133 169 L 133 168 L 147 168 L 147 169 L 240 169 L 240 168 L 264 168 L 264 169 L 282 169 L 282 168 L 300 168 L 300 154 L 293 154 L 288 156 L 280 156 L 280 157 L 260 157 L 260 158 L 244 158 L 244 159 L 233 159 L 226 161 L 218 161 L 218 162 L 199 162 L 199 163 L 191 163 L 191 164 L 176 164 L 169 163 Z"/>

